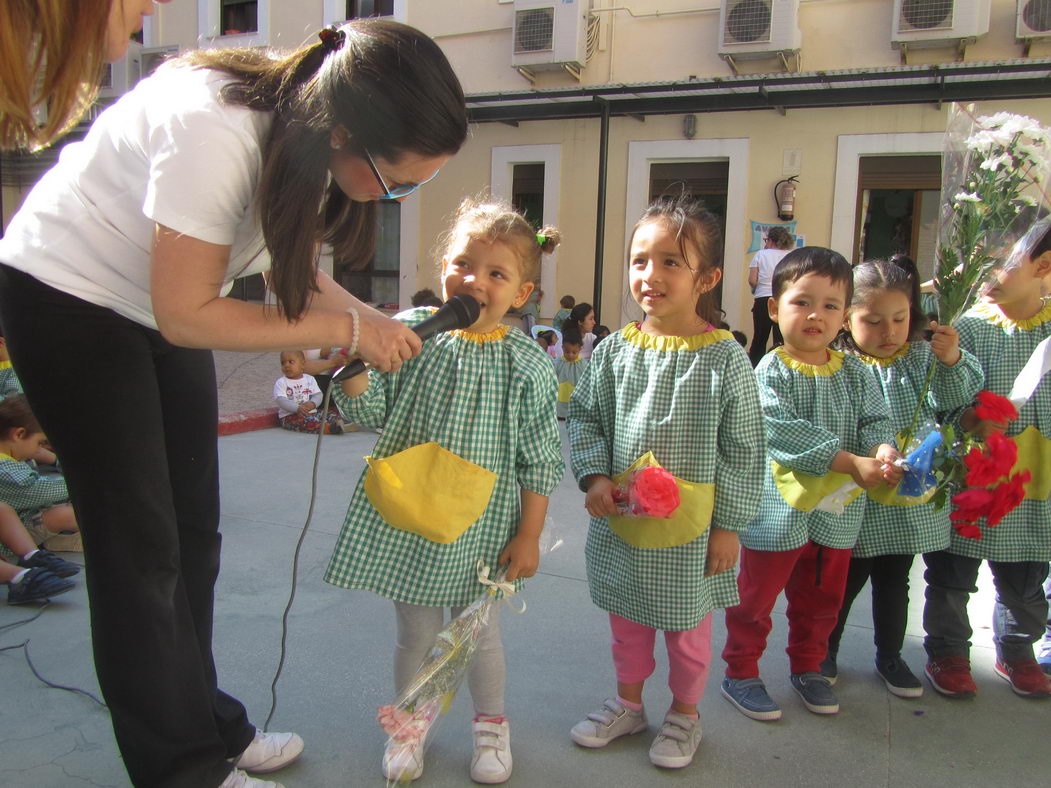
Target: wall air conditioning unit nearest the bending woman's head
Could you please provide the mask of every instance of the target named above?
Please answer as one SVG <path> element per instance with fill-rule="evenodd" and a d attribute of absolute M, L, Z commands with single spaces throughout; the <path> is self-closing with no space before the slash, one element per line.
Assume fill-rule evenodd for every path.
<path fill-rule="evenodd" d="M 588 61 L 586 6 L 588 0 L 515 0 L 512 67 L 579 76 Z"/>

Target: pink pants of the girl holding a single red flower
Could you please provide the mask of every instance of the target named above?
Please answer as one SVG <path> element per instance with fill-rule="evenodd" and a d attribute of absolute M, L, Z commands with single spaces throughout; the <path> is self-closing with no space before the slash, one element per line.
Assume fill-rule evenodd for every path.
<path fill-rule="evenodd" d="M 657 630 L 636 624 L 615 613 L 610 614 L 613 630 L 613 665 L 621 684 L 638 684 L 648 679 L 657 666 L 654 642 Z M 665 631 L 667 646 L 667 685 L 679 703 L 695 704 L 704 694 L 712 663 L 712 614 L 693 629 Z"/>

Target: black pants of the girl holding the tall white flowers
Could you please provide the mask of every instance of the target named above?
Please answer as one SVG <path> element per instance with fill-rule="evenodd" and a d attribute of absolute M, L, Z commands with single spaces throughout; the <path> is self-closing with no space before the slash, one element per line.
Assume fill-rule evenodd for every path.
<path fill-rule="evenodd" d="M 839 651 L 850 605 L 869 580 L 872 582 L 872 640 L 875 642 L 877 658 L 901 654 L 909 620 L 909 571 L 913 559 L 913 555 L 850 559 L 840 618 L 828 637 L 829 654 Z"/>

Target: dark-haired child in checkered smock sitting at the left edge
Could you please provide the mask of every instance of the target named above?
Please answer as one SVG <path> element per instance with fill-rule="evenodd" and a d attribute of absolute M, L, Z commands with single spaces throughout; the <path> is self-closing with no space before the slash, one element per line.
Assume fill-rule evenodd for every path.
<path fill-rule="evenodd" d="M 80 531 L 65 479 L 41 476 L 26 463 L 45 440 L 24 394 L 0 402 L 0 501 L 18 512 L 37 544 Z"/>

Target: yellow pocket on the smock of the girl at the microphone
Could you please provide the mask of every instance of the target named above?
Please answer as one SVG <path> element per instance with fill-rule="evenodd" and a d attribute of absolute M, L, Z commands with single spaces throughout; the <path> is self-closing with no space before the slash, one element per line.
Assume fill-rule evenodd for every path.
<path fill-rule="evenodd" d="M 477 522 L 496 486 L 492 471 L 434 441 L 365 461 L 365 494 L 384 520 L 441 544 Z"/>

